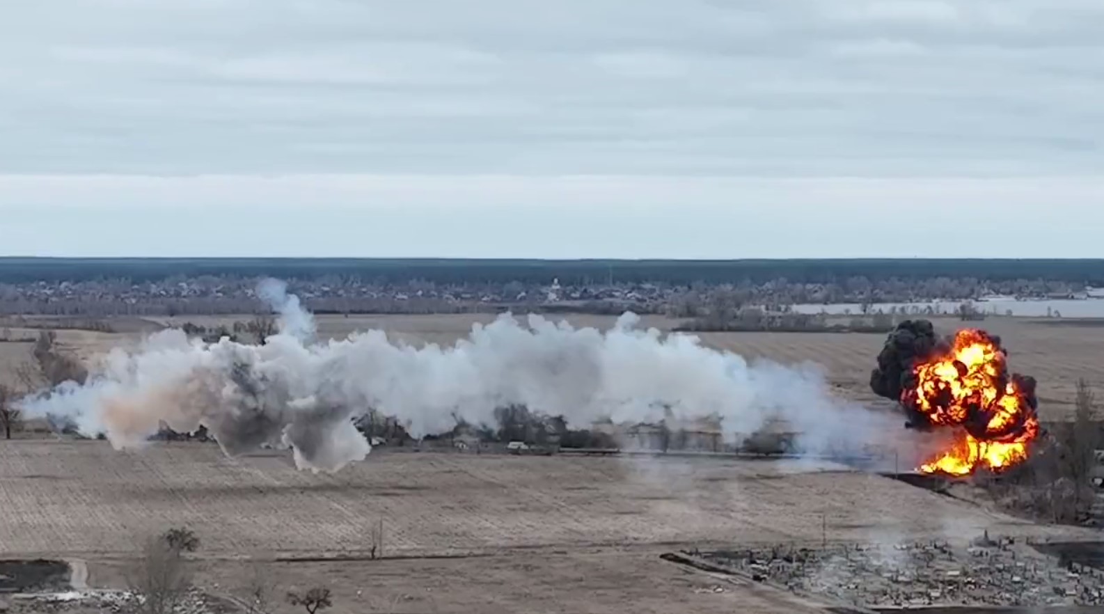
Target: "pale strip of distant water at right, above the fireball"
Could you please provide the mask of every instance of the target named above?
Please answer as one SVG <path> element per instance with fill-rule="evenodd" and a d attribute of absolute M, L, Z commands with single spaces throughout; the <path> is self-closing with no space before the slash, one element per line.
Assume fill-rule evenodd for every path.
<path fill-rule="evenodd" d="M 998 316 L 1012 316 L 1044 318 L 1047 316 L 1061 316 L 1063 318 L 1104 318 L 1104 299 L 1045 299 L 1045 300 L 1016 300 L 1015 298 L 995 298 L 990 300 L 972 301 L 978 311 L 994 314 Z M 931 307 L 935 314 L 954 314 L 960 300 L 933 300 L 928 303 L 874 303 L 870 306 L 871 314 L 878 310 L 889 313 L 889 310 L 901 310 L 904 307 L 910 315 L 923 316 Z M 862 314 L 862 306 L 858 303 L 840 303 L 834 305 L 794 305 L 794 310 L 800 314 Z M 1048 311 L 1049 310 L 1049 311 Z"/>

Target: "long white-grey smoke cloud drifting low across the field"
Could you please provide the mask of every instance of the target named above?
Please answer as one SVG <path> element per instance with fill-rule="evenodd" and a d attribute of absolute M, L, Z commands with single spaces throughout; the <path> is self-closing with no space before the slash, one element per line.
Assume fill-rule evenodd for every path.
<path fill-rule="evenodd" d="M 835 400 L 811 367 L 750 364 L 692 336 L 640 330 L 633 314 L 607 331 L 502 316 L 452 347 L 415 348 L 379 330 L 312 342 L 314 319 L 283 283 L 266 282 L 258 295 L 279 314 L 279 332 L 264 345 L 164 330 L 108 353 L 85 384 L 63 384 L 21 409 L 66 417 L 117 448 L 146 445 L 162 423 L 177 432 L 203 425 L 229 455 L 285 445 L 300 468 L 316 470 L 364 458 L 370 446 L 352 419 L 369 409 L 399 417 L 415 437 L 448 431 L 457 419 L 495 424 L 495 409 L 509 404 L 583 428 L 604 417 L 719 416 L 728 437 L 781 417 L 805 432 L 810 451 L 900 427 Z"/>

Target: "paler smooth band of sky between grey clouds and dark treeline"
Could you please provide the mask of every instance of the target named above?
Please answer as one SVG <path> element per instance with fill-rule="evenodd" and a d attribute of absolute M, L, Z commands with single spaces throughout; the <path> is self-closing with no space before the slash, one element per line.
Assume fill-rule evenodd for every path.
<path fill-rule="evenodd" d="M 0 177 L 0 253 L 1095 257 L 1102 201 L 1100 177 Z"/>

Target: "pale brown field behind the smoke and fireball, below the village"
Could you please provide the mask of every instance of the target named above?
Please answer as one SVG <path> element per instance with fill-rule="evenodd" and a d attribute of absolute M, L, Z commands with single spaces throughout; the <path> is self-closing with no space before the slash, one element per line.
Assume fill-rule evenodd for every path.
<path fill-rule="evenodd" d="M 550 316 L 567 319 L 574 326 L 608 328 L 616 318 L 592 315 Z M 192 321 L 201 326 L 232 325 L 248 316 L 188 318 L 113 318 L 118 332 L 104 334 L 82 330 L 60 330 L 59 341 L 83 358 L 93 358 L 115 346 L 136 343 L 142 335 L 163 326 L 180 326 Z M 319 335 L 323 338 L 342 338 L 357 330 L 379 328 L 392 339 L 412 345 L 452 345 L 465 337 L 475 322 L 489 322 L 491 315 L 433 315 L 433 316 L 318 316 Z M 944 331 L 964 325 L 985 328 L 999 335 L 1008 348 L 1009 364 L 1013 371 L 1034 375 L 1039 380 L 1040 413 L 1044 420 L 1064 420 L 1072 411 L 1074 384 L 1084 378 L 1090 384 L 1104 387 L 1104 371 L 1098 369 L 1100 348 L 1104 347 L 1104 325 L 1057 326 L 1060 320 L 1028 318 L 989 318 L 980 322 L 963 322 L 955 318 L 935 318 Z M 662 316 L 641 318 L 641 325 L 669 330 L 680 320 Z M 1104 324 L 1104 322 L 1102 322 Z M 13 329 L 15 337 L 33 335 L 33 330 Z M 871 402 L 875 398 L 869 389 L 870 370 L 885 339 L 881 334 L 831 332 L 703 332 L 704 345 L 733 351 L 749 359 L 763 358 L 786 363 L 813 361 L 821 364 L 830 381 L 841 394 Z M 26 360 L 30 345 L 0 343 L 0 381 L 12 378 L 11 370 Z"/>

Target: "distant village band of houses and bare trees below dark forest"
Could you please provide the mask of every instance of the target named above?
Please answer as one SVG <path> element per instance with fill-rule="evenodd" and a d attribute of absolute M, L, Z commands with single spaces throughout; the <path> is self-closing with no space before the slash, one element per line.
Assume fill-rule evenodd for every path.
<path fill-rule="evenodd" d="M 178 316 L 263 313 L 257 299 L 259 277 L 176 276 L 156 282 L 127 279 L 0 283 L 0 314 L 52 316 Z M 582 311 L 666 314 L 702 317 L 722 310 L 756 306 L 785 311 L 786 306 L 816 304 L 905 303 L 917 300 L 977 300 L 985 297 L 1086 298 L 1089 288 L 1065 282 L 1021 279 L 986 283 L 974 278 L 935 277 L 921 280 L 871 282 L 850 277 L 837 283 L 795 283 L 774 279 L 753 284 L 662 282 L 439 284 L 422 279 L 379 283 L 358 277 L 321 275 L 288 279 L 312 311 L 320 314 L 449 314 L 475 311 Z"/>

